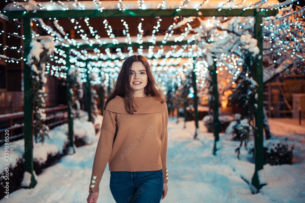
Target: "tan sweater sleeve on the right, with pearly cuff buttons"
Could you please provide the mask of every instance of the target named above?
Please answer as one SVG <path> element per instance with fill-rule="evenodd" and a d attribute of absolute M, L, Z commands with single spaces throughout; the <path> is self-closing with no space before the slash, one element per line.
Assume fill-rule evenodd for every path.
<path fill-rule="evenodd" d="M 162 172 L 163 172 L 163 183 L 168 182 L 168 170 L 166 167 L 166 156 L 167 156 L 167 123 L 168 123 L 168 111 L 163 111 L 162 116 L 162 133 L 161 133 L 161 161 L 162 161 Z"/>

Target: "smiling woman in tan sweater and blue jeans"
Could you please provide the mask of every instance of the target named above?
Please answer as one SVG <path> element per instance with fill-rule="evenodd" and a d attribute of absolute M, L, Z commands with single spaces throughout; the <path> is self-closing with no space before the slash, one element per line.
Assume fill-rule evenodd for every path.
<path fill-rule="evenodd" d="M 159 203 L 167 194 L 168 112 L 145 57 L 124 61 L 104 109 L 88 203 L 98 198 L 108 161 L 117 203 Z"/>

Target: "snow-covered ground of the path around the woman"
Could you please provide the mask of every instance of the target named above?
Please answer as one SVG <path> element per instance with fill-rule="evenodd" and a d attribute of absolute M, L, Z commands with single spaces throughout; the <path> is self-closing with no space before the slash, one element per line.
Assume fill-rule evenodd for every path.
<path fill-rule="evenodd" d="M 182 119 L 181 119 L 182 120 Z M 288 119 L 289 121 L 289 119 Z M 292 121 L 270 119 L 271 132 L 276 136 L 289 135 L 295 145 L 296 157 L 305 157 L 305 127 L 296 126 Z M 212 154 L 213 134 L 207 133 L 199 121 L 199 135 L 193 140 L 194 121 L 176 124 L 168 123 L 167 168 L 169 181 L 166 203 L 265 203 L 305 202 L 305 161 L 296 159 L 292 165 L 264 166 L 262 174 L 267 182 L 260 193 L 252 194 L 244 179 L 252 178 L 254 164 L 251 156 L 242 148 L 240 160 L 234 152 L 239 142 L 231 141 L 223 133 L 221 149 Z M 297 130 L 296 130 L 297 129 Z M 295 131 L 296 130 L 296 131 Z M 298 131 L 300 130 L 300 131 Z M 63 157 L 59 163 L 48 167 L 38 177 L 33 189 L 20 189 L 0 202 L 69 203 L 86 202 L 91 170 L 98 136 L 93 144 L 77 148 L 73 155 Z M 108 165 L 100 183 L 97 202 L 115 203 L 109 189 L 110 172 Z"/>

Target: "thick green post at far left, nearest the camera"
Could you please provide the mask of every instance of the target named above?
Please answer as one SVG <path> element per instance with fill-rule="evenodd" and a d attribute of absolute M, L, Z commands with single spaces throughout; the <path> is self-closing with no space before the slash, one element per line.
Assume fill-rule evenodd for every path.
<path fill-rule="evenodd" d="M 35 187 L 37 181 L 34 176 L 34 165 L 33 165 L 33 107 L 31 103 L 31 67 L 27 65 L 27 56 L 30 53 L 30 42 L 32 37 L 32 27 L 30 25 L 32 18 L 25 18 L 23 20 L 23 58 L 26 60 L 23 63 L 23 99 L 24 99 L 24 171 L 29 172 L 31 176 L 31 182 L 28 187 Z M 26 150 L 27 149 L 27 150 Z"/>

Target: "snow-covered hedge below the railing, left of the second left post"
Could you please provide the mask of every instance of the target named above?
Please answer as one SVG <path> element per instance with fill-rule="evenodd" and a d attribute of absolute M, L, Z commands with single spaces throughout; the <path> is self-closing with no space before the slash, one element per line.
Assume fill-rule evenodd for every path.
<path fill-rule="evenodd" d="M 10 165 L 9 165 L 9 192 L 20 189 L 21 181 L 24 173 L 24 151 L 32 147 L 28 144 L 24 147 L 24 139 L 16 140 L 9 143 L 10 146 Z M 0 153 L 5 152 L 5 146 L 0 147 Z M 52 165 L 62 156 L 66 155 L 69 148 L 68 136 L 57 130 L 50 130 L 48 137 L 45 138 L 44 143 L 33 143 L 33 166 L 34 174 L 39 175 L 43 169 Z M 4 191 L 5 180 L 5 163 L 4 156 L 0 157 L 2 168 L 0 169 L 0 191 Z M 1 193 L 0 198 L 3 198 L 4 192 Z"/>

